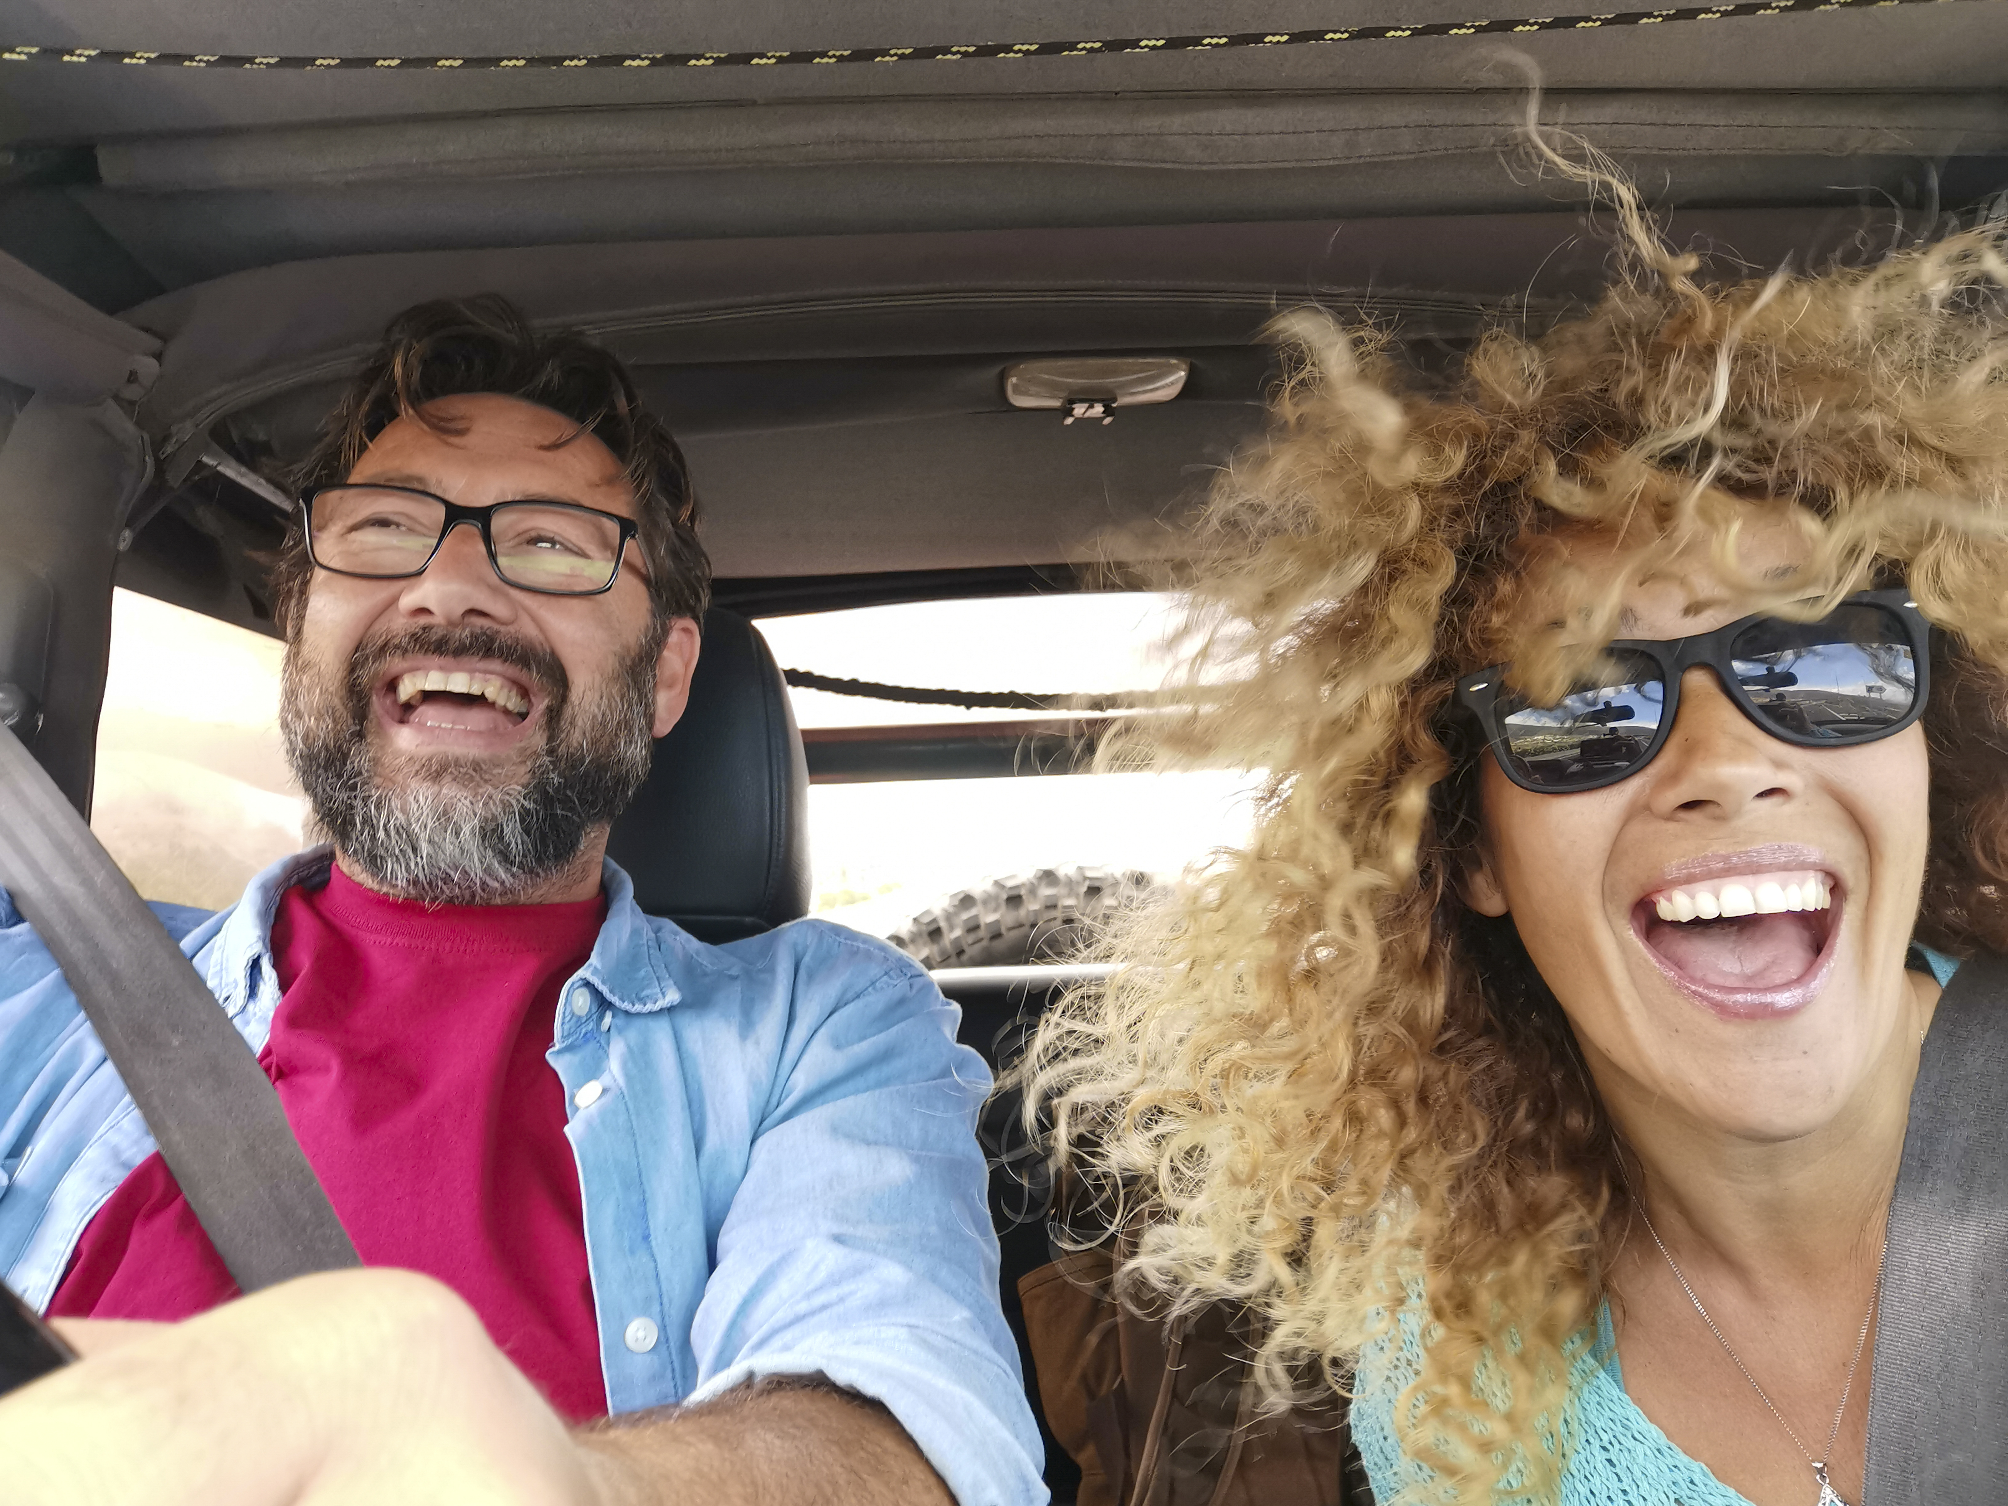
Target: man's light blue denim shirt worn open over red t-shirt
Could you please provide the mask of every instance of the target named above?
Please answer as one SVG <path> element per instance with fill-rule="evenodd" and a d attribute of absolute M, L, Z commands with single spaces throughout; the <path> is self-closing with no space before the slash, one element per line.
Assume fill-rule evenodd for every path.
<path fill-rule="evenodd" d="M 279 896 L 157 906 L 253 1050 Z M 998 1311 L 974 1118 L 990 1072 L 912 960 L 825 922 L 705 946 L 606 863 L 606 924 L 558 996 L 606 1402 L 703 1402 L 819 1371 L 877 1398 L 962 1506 L 1036 1504 L 1040 1444 Z M 584 1092 L 598 1084 L 596 1094 Z M 0 1273 L 46 1307 L 84 1225 L 155 1151 L 48 950 L 0 892 Z"/>

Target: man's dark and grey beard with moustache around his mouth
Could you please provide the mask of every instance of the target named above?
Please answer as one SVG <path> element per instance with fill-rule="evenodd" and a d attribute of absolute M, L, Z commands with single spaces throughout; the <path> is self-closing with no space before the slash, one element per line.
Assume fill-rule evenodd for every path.
<path fill-rule="evenodd" d="M 649 777 L 661 647 L 661 629 L 645 635 L 598 695 L 574 703 L 556 655 L 496 629 L 365 639 L 339 683 L 295 639 L 279 729 L 317 823 L 375 886 L 428 904 L 502 904 L 574 863 L 586 833 L 620 815 Z M 382 745 L 375 689 L 410 655 L 486 659 L 542 691 L 542 729 L 510 757 L 504 781 L 488 759 Z"/>

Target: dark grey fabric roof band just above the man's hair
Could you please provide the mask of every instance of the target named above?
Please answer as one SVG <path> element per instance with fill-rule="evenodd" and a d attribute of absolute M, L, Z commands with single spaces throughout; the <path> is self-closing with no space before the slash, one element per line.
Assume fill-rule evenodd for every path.
<path fill-rule="evenodd" d="M 1902 225 L 1886 209 L 1669 221 L 1677 243 L 1747 267 L 1871 251 Z M 127 321 L 167 341 L 141 422 L 179 444 L 337 373 L 398 309 L 468 289 L 584 327 L 641 365 L 1036 355 L 1249 341 L 1271 311 L 1319 299 L 1404 313 L 1416 337 L 1436 337 L 1508 305 L 1552 313 L 1592 295 L 1606 257 L 1570 213 L 426 251 L 263 267 Z"/>

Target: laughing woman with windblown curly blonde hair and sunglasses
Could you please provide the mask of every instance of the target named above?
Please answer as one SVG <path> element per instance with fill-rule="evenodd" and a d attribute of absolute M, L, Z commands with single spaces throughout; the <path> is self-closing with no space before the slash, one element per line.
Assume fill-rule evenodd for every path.
<path fill-rule="evenodd" d="M 1239 687 L 1155 735 L 1255 833 L 1026 1068 L 1122 1289 L 1349 1390 L 1384 1506 L 1859 1502 L 1920 1052 L 2008 950 L 2000 239 L 1705 285 L 1620 209 L 1448 394 L 1285 323 L 1193 552 Z"/>

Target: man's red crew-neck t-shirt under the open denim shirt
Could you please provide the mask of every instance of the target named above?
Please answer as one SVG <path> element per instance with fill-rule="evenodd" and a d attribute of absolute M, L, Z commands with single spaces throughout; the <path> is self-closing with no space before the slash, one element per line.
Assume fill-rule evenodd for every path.
<path fill-rule="evenodd" d="M 363 1263 L 450 1285 L 572 1420 L 604 1416 L 606 1388 L 564 1088 L 544 1052 L 604 916 L 600 898 L 428 908 L 341 869 L 293 886 L 259 1054 Z M 50 1313 L 179 1319 L 235 1295 L 153 1155 L 84 1229 Z"/>

